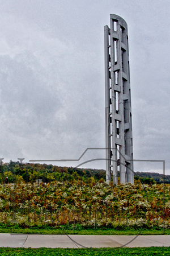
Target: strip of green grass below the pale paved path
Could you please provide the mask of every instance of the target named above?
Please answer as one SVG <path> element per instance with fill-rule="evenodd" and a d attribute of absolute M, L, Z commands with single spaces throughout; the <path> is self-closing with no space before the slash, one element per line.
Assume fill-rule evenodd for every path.
<path fill-rule="evenodd" d="M 103 248 L 103 249 L 47 249 L 47 248 L 39 248 L 39 249 L 32 249 L 32 248 L 4 248 L 0 247 L 0 254 L 1 256 L 16 256 L 16 255 L 42 255 L 42 256 L 49 256 L 49 255 L 145 255 L 145 256 L 152 256 L 152 255 L 170 255 L 170 247 L 136 247 L 136 248 Z"/>

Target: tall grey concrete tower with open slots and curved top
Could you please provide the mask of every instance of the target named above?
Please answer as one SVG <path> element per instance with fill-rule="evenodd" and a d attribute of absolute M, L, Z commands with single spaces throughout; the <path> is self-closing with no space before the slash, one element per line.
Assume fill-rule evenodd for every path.
<path fill-rule="evenodd" d="M 104 27 L 106 180 L 134 183 L 128 26 L 111 14 Z"/>

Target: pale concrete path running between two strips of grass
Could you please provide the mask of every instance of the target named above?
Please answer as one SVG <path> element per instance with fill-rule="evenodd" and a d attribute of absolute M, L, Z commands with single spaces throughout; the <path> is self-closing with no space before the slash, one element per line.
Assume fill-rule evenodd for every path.
<path fill-rule="evenodd" d="M 0 247 L 150 247 L 170 246 L 170 236 L 87 236 L 0 234 Z"/>

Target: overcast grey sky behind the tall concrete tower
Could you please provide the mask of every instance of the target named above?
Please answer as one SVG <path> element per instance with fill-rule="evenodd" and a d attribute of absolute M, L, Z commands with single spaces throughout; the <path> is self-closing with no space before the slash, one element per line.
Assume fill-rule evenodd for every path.
<path fill-rule="evenodd" d="M 113 13 L 128 23 L 134 158 L 165 160 L 170 174 L 169 0 L 0 4 L 0 158 L 77 159 L 105 147 L 104 26 Z M 104 156 L 90 150 L 81 161 Z"/>

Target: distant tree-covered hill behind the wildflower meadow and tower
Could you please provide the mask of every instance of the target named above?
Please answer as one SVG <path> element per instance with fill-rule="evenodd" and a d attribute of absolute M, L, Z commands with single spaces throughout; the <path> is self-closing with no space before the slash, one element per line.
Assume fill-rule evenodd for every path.
<path fill-rule="evenodd" d="M 13 183 L 16 179 L 26 182 L 35 182 L 36 179 L 42 179 L 43 182 L 53 180 L 82 180 L 86 183 L 95 181 L 103 182 L 105 180 L 105 170 L 91 168 L 75 168 L 53 166 L 52 164 L 22 163 L 10 162 L 0 165 L 0 183 L 5 181 L 8 176 L 8 182 Z M 118 172 L 118 177 L 120 173 Z M 158 174 L 156 172 L 135 172 L 135 180 L 141 180 L 145 184 L 166 183 L 170 184 L 170 175 Z M 118 178 L 119 180 L 119 178 Z"/>

